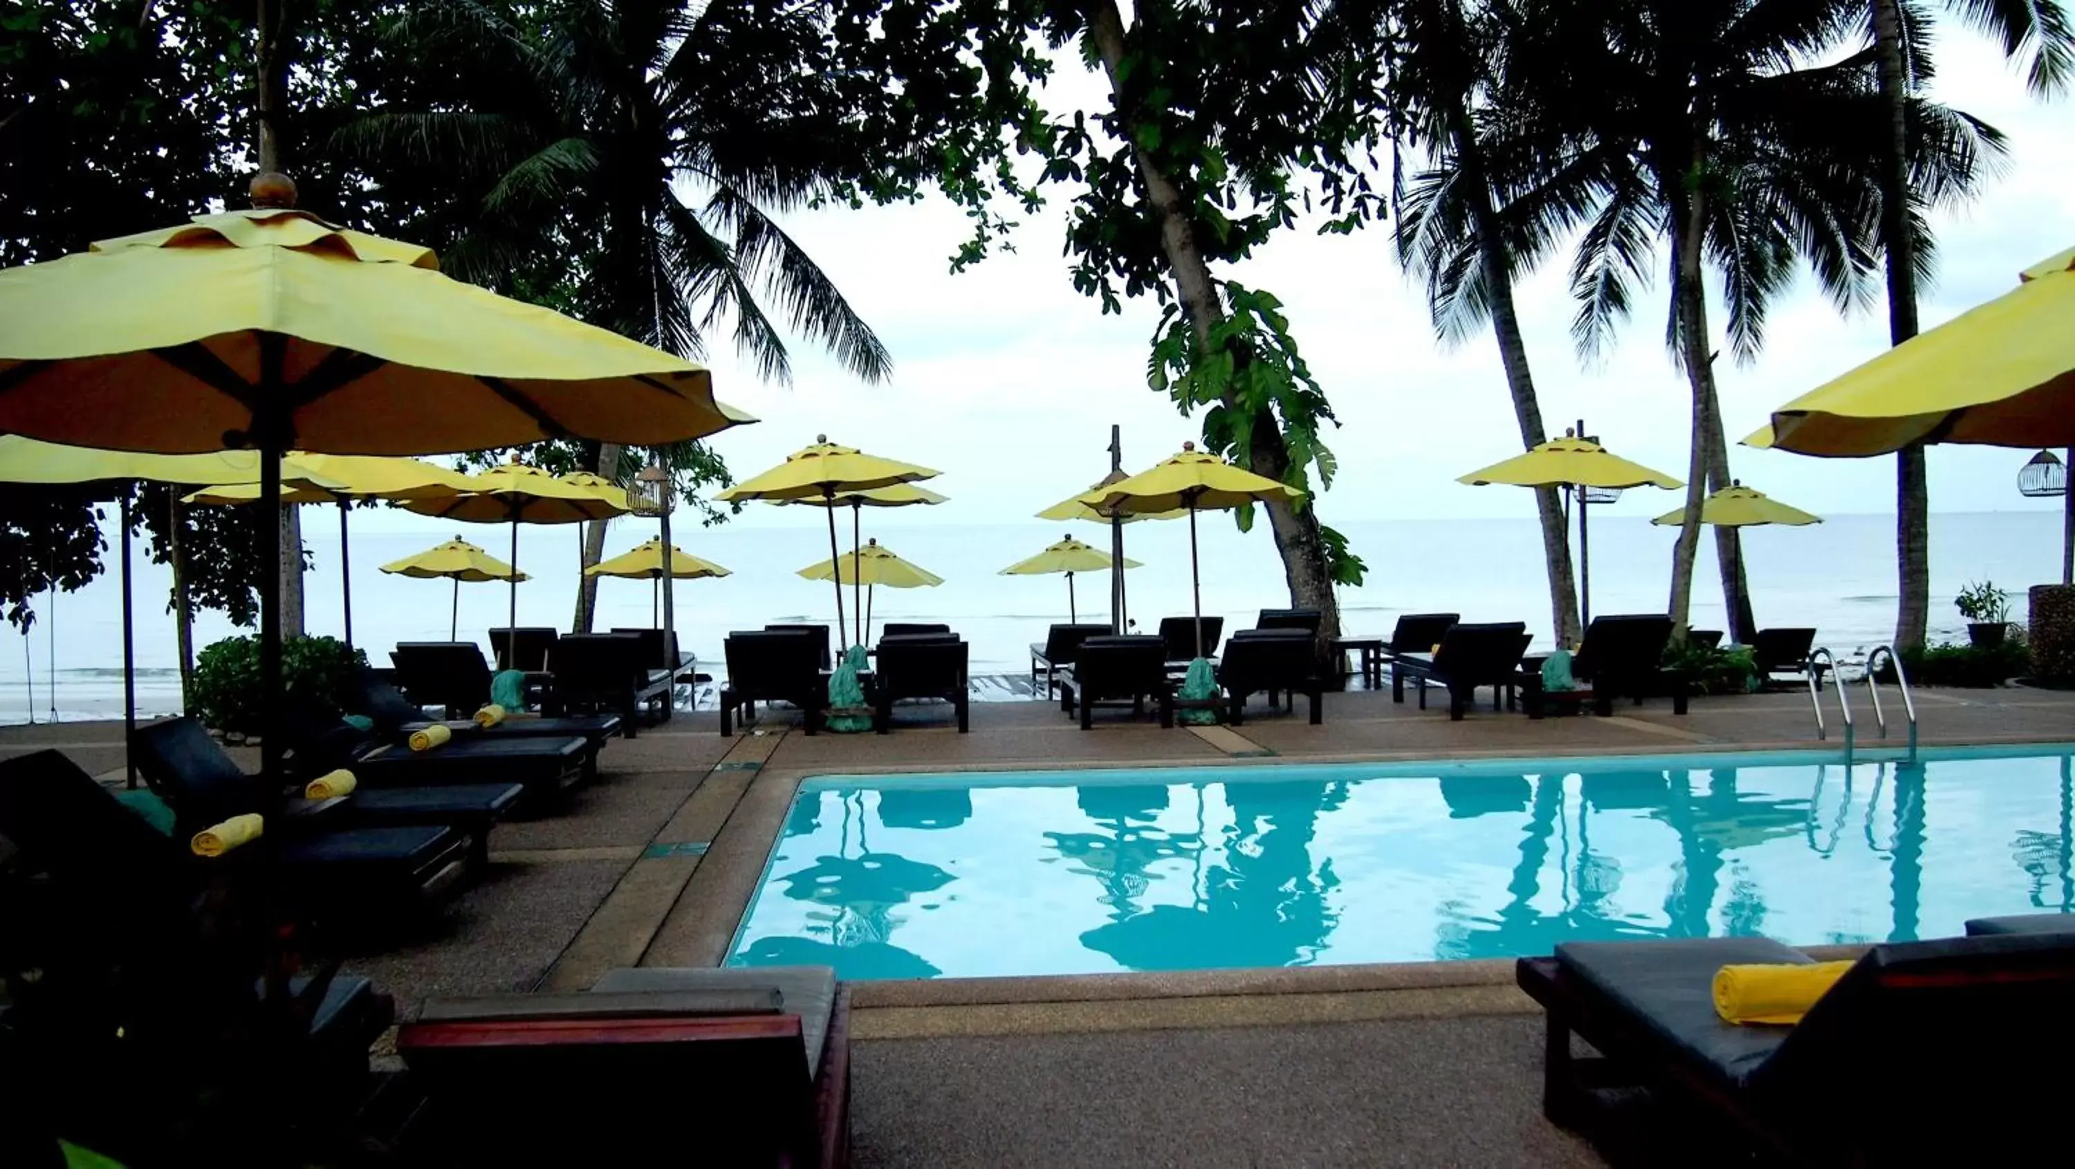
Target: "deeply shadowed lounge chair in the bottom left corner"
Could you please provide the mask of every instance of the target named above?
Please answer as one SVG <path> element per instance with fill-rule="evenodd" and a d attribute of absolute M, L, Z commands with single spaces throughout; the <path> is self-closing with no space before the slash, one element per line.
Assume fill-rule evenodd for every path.
<path fill-rule="evenodd" d="M 253 1055 L 241 1042 L 251 1034 L 268 1034 L 268 1071 L 293 1086 L 305 1119 L 340 1121 L 361 1105 L 390 997 L 328 961 L 259 1003 L 257 934 L 278 920 L 253 909 L 284 870 L 247 864 L 247 849 L 195 858 L 58 752 L 0 762 L 0 837 L 12 845 L 0 849 L 10 853 L 0 1061 L 19 1071 L 0 1105 L 0 1161 L 60 1165 L 56 1136 L 129 1165 L 222 1161 L 222 1130 L 197 1132 L 193 1096 L 166 1090 L 164 1076 L 208 1082 Z M 19 1140 L 35 1136 L 48 1138 L 48 1161 L 23 1154 Z M 237 1159 L 268 1161 L 255 1138 L 239 1134 Z"/>

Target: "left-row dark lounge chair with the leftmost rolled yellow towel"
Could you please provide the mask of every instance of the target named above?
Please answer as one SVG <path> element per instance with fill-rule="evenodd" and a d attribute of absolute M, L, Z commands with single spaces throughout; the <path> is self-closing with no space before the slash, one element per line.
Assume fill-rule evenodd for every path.
<path fill-rule="evenodd" d="M 197 750 L 193 735 L 216 760 Z M 290 799 L 266 791 L 191 718 L 139 727 L 131 750 L 137 770 L 172 808 L 174 835 L 183 841 L 228 816 L 266 816 L 266 835 L 237 849 L 234 860 L 280 866 L 290 895 L 320 912 L 363 916 L 382 905 L 442 897 L 483 855 L 483 837 L 452 824 L 486 822 L 488 835 L 488 820 L 508 808 L 502 789 L 475 791 L 463 797 L 467 808 L 442 808 L 438 822 L 357 826 L 353 816 L 363 812 L 347 799 Z M 409 816 L 403 808 L 390 814 Z"/>

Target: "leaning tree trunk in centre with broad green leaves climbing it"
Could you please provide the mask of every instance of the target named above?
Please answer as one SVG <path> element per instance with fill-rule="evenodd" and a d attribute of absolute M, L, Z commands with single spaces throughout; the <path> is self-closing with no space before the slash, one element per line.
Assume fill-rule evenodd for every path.
<path fill-rule="evenodd" d="M 1102 56 L 1104 73 L 1110 79 L 1112 102 L 1123 100 L 1120 71 L 1125 60 L 1125 21 L 1116 10 L 1116 0 L 1096 0 L 1089 10 L 1089 35 Z M 1120 110 L 1123 112 L 1123 110 Z M 1160 245 L 1166 251 L 1168 268 L 1174 272 L 1174 295 L 1181 299 L 1197 345 L 1210 343 L 1210 330 L 1224 320 L 1224 305 L 1212 280 L 1210 264 L 1195 245 L 1195 224 L 1174 181 L 1143 149 L 1133 149 L 1139 183 L 1145 199 L 1160 214 Z M 1226 397 L 1228 409 L 1241 409 L 1237 397 Z M 1291 469 L 1289 446 L 1272 413 L 1253 419 L 1247 442 L 1247 469 L 1280 482 Z M 1326 540 L 1318 525 L 1316 500 L 1305 500 L 1299 511 L 1289 502 L 1270 502 L 1268 525 L 1274 529 L 1276 550 L 1282 554 L 1282 575 L 1291 588 L 1291 604 L 1316 608 L 1320 613 L 1320 658 L 1330 656 L 1326 646 L 1340 635 L 1340 608 L 1332 594 L 1332 575 L 1326 569 Z"/>

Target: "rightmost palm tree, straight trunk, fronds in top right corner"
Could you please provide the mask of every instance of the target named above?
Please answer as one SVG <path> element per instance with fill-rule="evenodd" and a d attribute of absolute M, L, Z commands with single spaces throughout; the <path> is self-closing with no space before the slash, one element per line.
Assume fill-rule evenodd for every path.
<path fill-rule="evenodd" d="M 2075 27 L 2054 0 L 1946 0 L 1946 10 L 2002 42 L 2004 56 L 2029 56 L 2025 81 L 2048 98 L 2075 75 Z M 1874 52 L 1880 58 L 1880 100 L 1886 118 L 1880 135 L 1880 241 L 1888 276 L 1888 343 L 1917 334 L 1917 276 L 1928 270 L 1928 228 L 1921 216 L 1907 141 L 1911 96 L 1932 75 L 1930 29 L 1915 0 L 1870 0 Z M 1924 646 L 1930 617 L 1930 484 L 1924 446 L 1905 446 L 1894 463 L 1894 550 L 1901 604 L 1894 646 Z"/>

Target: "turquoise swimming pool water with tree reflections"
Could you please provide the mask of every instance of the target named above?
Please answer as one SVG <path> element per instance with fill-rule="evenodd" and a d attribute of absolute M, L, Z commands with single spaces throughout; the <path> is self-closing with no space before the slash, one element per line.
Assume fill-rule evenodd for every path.
<path fill-rule="evenodd" d="M 728 963 L 934 978 L 1955 934 L 2075 909 L 2071 752 L 811 779 Z"/>

